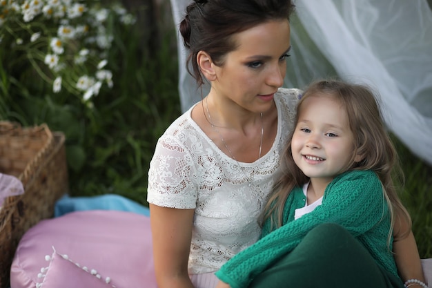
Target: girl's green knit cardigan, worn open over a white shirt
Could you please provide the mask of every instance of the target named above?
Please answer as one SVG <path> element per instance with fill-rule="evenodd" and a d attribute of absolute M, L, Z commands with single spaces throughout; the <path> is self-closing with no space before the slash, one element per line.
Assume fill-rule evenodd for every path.
<path fill-rule="evenodd" d="M 322 204 L 294 220 L 295 209 L 304 207 L 305 201 L 302 188 L 293 189 L 285 203 L 284 225 L 271 232 L 267 220 L 262 238 L 226 262 L 216 276 L 232 288 L 248 287 L 255 276 L 292 251 L 308 231 L 322 223 L 337 223 L 369 250 L 378 265 L 399 277 L 391 253 L 393 237 L 390 246 L 387 243 L 389 208 L 373 171 L 348 171 L 335 177 L 324 191 Z"/>

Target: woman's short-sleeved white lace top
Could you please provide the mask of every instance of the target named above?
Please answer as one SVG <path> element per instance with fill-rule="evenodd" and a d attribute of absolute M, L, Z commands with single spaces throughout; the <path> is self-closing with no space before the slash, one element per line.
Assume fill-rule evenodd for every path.
<path fill-rule="evenodd" d="M 275 142 L 253 163 L 237 163 L 223 153 L 190 117 L 192 108 L 159 138 L 148 171 L 147 200 L 161 207 L 195 209 L 190 274 L 217 271 L 259 238 L 259 214 L 293 129 L 299 95 L 300 90 L 287 88 L 275 94 Z"/>

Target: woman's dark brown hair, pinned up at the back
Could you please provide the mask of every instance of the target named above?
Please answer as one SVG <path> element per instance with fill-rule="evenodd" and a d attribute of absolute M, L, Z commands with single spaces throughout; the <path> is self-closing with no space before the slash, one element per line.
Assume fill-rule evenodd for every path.
<path fill-rule="evenodd" d="M 202 86 L 199 51 L 207 52 L 217 66 L 222 66 L 226 53 L 236 48 L 235 33 L 271 20 L 289 20 L 294 7 L 291 0 L 195 0 L 186 8 L 179 27 L 184 46 L 190 51 L 188 72 Z"/>

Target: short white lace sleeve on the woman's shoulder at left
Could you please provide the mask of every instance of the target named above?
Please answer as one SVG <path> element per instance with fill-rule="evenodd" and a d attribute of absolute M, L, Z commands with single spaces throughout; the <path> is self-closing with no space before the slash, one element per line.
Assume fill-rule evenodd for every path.
<path fill-rule="evenodd" d="M 192 157 L 173 135 L 159 138 L 148 171 L 147 201 L 161 207 L 195 209 Z"/>

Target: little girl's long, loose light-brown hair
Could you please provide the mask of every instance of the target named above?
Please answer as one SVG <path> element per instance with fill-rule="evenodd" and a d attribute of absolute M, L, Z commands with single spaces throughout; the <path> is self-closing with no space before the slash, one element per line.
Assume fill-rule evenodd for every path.
<path fill-rule="evenodd" d="M 371 88 L 363 84 L 350 84 L 340 80 L 316 81 L 307 88 L 302 99 L 297 104 L 298 114 L 302 103 L 308 97 L 317 94 L 331 95 L 346 110 L 348 122 L 354 138 L 354 151 L 351 161 L 346 166 L 348 170 L 372 170 L 380 178 L 384 197 L 391 213 L 391 231 L 395 227 L 395 219 L 408 223 L 411 230 L 411 218 L 400 202 L 397 190 L 393 183 L 393 176 L 399 177 L 403 182 L 403 173 L 399 166 L 397 153 L 386 131 L 380 106 L 375 99 Z M 283 211 L 286 198 L 295 186 L 302 186 L 308 182 L 308 177 L 297 167 L 291 153 L 291 140 L 293 131 L 288 139 L 284 154 L 281 159 L 279 177 L 273 187 L 273 192 L 264 209 L 264 220 L 271 218 L 272 227 L 280 227 L 283 224 Z M 355 162 L 355 155 L 362 155 L 361 162 Z M 401 183 L 402 183 L 401 182 Z M 397 227 L 406 227 L 400 222 Z M 400 233 L 400 231 L 397 231 Z"/>

